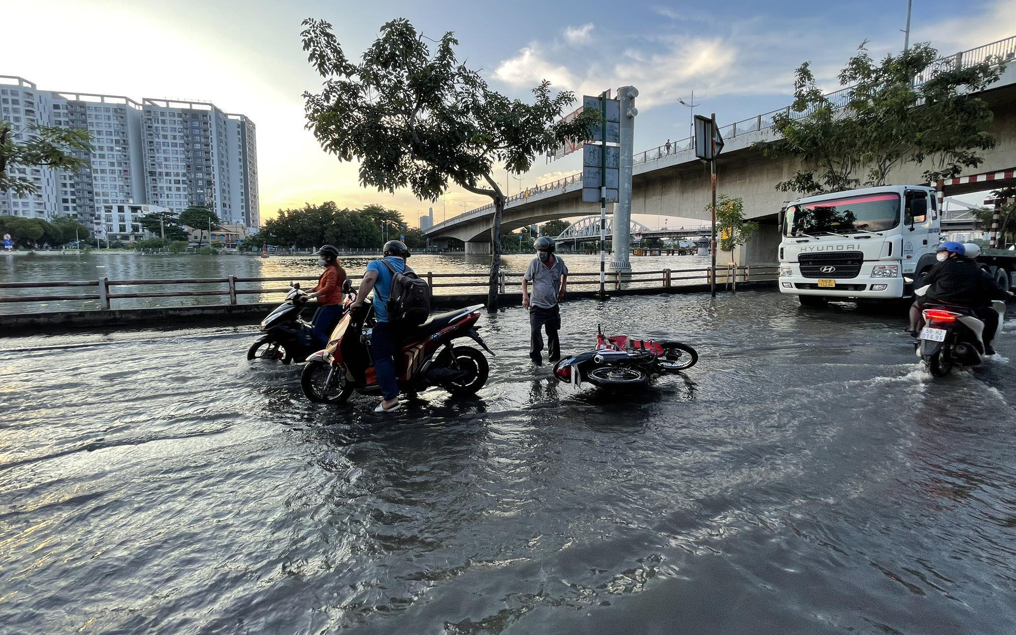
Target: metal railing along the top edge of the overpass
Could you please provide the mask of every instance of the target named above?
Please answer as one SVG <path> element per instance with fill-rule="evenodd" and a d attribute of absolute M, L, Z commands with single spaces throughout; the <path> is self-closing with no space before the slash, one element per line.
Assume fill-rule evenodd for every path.
<path fill-rule="evenodd" d="M 980 64 L 981 62 L 988 61 L 992 58 L 999 58 L 1003 63 L 1011 62 L 1016 60 L 1016 36 L 1005 38 L 999 40 L 998 42 L 993 42 L 991 44 L 986 44 L 973 49 L 966 51 L 960 51 L 948 57 L 943 57 L 935 62 L 932 62 L 928 68 L 922 71 L 918 75 L 914 77 L 914 85 L 920 85 L 928 81 L 934 73 L 939 70 L 946 68 L 967 68 L 973 66 L 974 64 Z M 826 99 L 832 102 L 836 109 L 843 108 L 849 101 L 850 87 L 840 88 L 839 90 L 834 90 L 826 94 Z M 804 119 L 809 115 L 808 112 L 796 113 L 789 106 L 781 108 L 779 110 L 770 111 L 768 113 L 763 113 L 761 115 L 756 115 L 755 117 L 749 117 L 748 119 L 742 119 L 741 121 L 736 121 L 733 124 L 727 124 L 719 129 L 720 134 L 724 139 L 732 139 L 737 137 L 739 134 L 748 134 L 749 132 L 759 132 L 761 130 L 767 130 L 772 127 L 772 118 L 774 115 L 779 113 L 785 113 L 787 116 L 793 119 Z M 658 161 L 670 156 L 671 154 L 677 154 L 678 152 L 685 152 L 694 149 L 695 138 L 688 137 L 686 139 L 679 139 L 677 141 L 671 141 L 662 145 L 658 145 L 654 148 L 636 152 L 632 161 L 632 165 L 639 166 L 652 161 Z M 582 173 L 578 172 L 573 175 L 569 175 L 562 179 L 558 179 L 553 183 L 547 185 L 535 186 L 533 188 L 528 188 L 527 192 L 529 195 L 542 194 L 547 191 L 563 189 L 567 185 L 572 183 L 578 183 L 582 180 Z M 525 192 L 521 192 L 514 196 L 510 196 L 505 200 L 505 206 L 508 203 L 521 200 L 523 198 L 528 198 Z M 468 218 L 469 216 L 481 214 L 490 209 L 494 209 L 494 204 L 489 203 L 483 207 L 477 207 L 475 209 L 470 209 L 464 213 L 457 216 L 443 220 L 438 225 L 435 225 L 431 230 L 438 229 L 445 226 L 446 224 L 452 225 L 456 224 L 461 219 Z"/>

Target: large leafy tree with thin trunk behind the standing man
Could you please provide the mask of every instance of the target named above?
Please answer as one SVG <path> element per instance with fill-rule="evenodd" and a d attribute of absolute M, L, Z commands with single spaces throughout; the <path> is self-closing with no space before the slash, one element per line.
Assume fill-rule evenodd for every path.
<path fill-rule="evenodd" d="M 488 308 L 495 310 L 505 203 L 495 167 L 528 171 L 536 154 L 567 138 L 588 138 L 599 113 L 555 123 L 575 97 L 552 94 L 547 81 L 533 88 L 533 104 L 491 90 L 458 61 L 450 31 L 432 53 L 408 20 L 394 19 L 352 61 L 331 24 L 308 19 L 304 26 L 304 50 L 324 77 L 320 93 L 304 93 L 307 127 L 326 151 L 360 162 L 363 186 L 389 192 L 407 187 L 433 201 L 454 183 L 493 199 Z"/>

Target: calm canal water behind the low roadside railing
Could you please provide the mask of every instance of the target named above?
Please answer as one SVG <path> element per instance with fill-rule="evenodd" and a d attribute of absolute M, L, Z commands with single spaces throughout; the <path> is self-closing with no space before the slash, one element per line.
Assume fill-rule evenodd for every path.
<path fill-rule="evenodd" d="M 502 270 L 506 273 L 521 273 L 533 258 L 532 254 L 506 254 L 502 258 Z M 341 258 L 344 268 L 354 275 L 362 275 L 371 258 L 365 256 L 347 256 Z M 573 290 L 593 290 L 598 288 L 599 256 L 586 254 L 562 254 L 573 273 L 596 272 L 595 276 L 573 276 L 572 282 L 586 280 L 586 283 L 573 284 Z M 456 254 L 419 254 L 409 258 L 409 265 L 417 273 L 475 273 L 475 278 L 435 279 L 436 294 L 486 293 L 487 275 L 490 272 L 490 256 L 467 256 Z M 704 269 L 709 266 L 707 256 L 632 256 L 634 271 L 659 271 L 670 269 Z M 610 262 L 608 262 L 610 266 Z M 771 273 L 771 269 L 769 270 Z M 281 276 L 315 276 L 321 273 L 317 266 L 317 256 L 257 256 L 223 255 L 141 255 L 134 253 L 92 253 L 87 255 L 60 254 L 60 252 L 40 252 L 33 255 L 0 254 L 0 281 L 28 282 L 52 280 L 98 280 L 107 277 L 110 280 L 136 279 L 182 279 L 182 278 L 223 278 L 217 285 L 209 284 L 144 284 L 118 285 L 112 288 L 112 293 L 157 293 L 170 291 L 220 291 L 227 292 L 225 278 L 230 275 L 239 277 L 281 277 Z M 675 284 L 705 282 L 704 272 L 687 274 L 674 273 L 675 276 L 701 276 L 694 279 L 675 280 Z M 637 276 L 636 276 L 637 277 Z M 648 279 L 649 276 L 646 277 Z M 652 282 L 627 282 L 627 285 L 659 287 L 661 275 L 654 276 Z M 588 282 L 595 280 L 596 285 Z M 445 287 L 441 282 L 475 282 L 475 287 Z M 304 280 L 302 285 L 313 285 L 313 281 Z M 280 289 L 285 288 L 285 281 L 242 282 L 238 289 Z M 510 288 L 511 289 L 511 288 Z M 517 287 L 513 289 L 517 290 Z M 97 294 L 96 287 L 81 288 L 50 288 L 50 289 L 5 289 L 0 290 L 2 297 L 30 297 L 46 295 Z M 279 294 L 244 294 L 238 296 L 238 302 L 271 302 L 280 300 Z M 131 309 L 152 306 L 198 306 L 211 304 L 227 304 L 227 296 L 198 296 L 184 298 L 130 298 L 112 301 L 114 309 Z M 27 313 L 48 311 L 75 311 L 81 309 L 98 309 L 99 301 L 51 301 L 33 303 L 0 303 L 2 313 Z"/>

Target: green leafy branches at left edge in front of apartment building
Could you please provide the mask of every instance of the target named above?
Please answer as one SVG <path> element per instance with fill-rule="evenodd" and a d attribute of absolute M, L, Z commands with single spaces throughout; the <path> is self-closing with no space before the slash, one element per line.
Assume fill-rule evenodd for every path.
<path fill-rule="evenodd" d="M 15 141 L 19 132 L 13 124 L 0 121 L 0 192 L 11 191 L 17 196 L 36 193 L 30 178 L 31 168 L 48 167 L 74 172 L 87 166 L 77 153 L 91 150 L 87 130 L 68 130 L 50 126 L 28 126 L 26 141 Z M 21 171 L 25 174 L 20 174 Z"/>

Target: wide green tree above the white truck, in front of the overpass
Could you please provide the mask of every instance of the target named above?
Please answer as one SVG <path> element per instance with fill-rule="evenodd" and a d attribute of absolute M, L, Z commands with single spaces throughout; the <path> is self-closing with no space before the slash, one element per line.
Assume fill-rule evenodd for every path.
<path fill-rule="evenodd" d="M 796 72 L 789 112 L 773 117 L 780 135 L 756 146 L 769 157 L 804 165 L 780 182 L 784 192 L 813 194 L 859 185 L 885 185 L 904 163 L 924 164 L 926 181 L 958 176 L 995 145 L 988 133 L 992 111 L 972 93 L 996 81 L 1000 59 L 965 68 L 936 62 L 927 44 L 876 63 L 862 43 L 839 73 L 843 91 L 826 96 L 808 62 Z M 915 79 L 924 78 L 919 82 Z"/>

